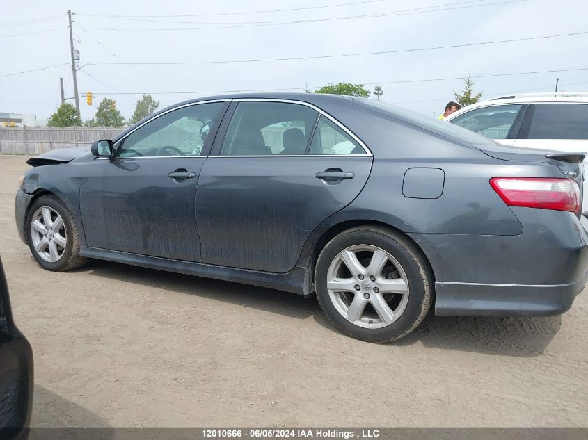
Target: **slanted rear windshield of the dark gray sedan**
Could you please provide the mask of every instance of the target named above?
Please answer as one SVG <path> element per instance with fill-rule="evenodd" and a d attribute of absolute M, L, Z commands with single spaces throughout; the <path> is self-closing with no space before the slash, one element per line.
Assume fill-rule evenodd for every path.
<path fill-rule="evenodd" d="M 427 131 L 432 131 L 445 138 L 451 138 L 466 144 L 487 144 L 493 140 L 486 136 L 479 135 L 473 131 L 462 129 L 455 124 L 438 120 L 436 117 L 426 116 L 399 106 L 386 104 L 382 101 L 373 101 L 372 99 L 354 99 L 353 102 L 359 106 L 369 108 L 383 115 L 394 117 L 408 124 L 415 125 Z"/>

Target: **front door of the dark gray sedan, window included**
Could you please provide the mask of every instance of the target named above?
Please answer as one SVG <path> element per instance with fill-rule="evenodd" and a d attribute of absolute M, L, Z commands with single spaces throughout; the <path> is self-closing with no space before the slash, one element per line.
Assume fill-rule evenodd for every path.
<path fill-rule="evenodd" d="M 81 184 L 88 247 L 200 261 L 196 183 L 228 102 L 158 115 L 97 158 Z"/>

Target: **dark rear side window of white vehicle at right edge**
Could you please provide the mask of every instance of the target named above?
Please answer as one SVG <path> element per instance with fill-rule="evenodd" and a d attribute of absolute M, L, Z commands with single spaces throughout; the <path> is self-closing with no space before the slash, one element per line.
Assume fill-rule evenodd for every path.
<path fill-rule="evenodd" d="M 588 104 L 535 104 L 528 139 L 588 139 Z"/>

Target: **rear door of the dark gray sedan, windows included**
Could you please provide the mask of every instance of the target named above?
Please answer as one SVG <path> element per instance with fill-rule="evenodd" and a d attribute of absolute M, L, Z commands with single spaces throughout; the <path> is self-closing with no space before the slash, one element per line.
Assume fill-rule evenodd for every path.
<path fill-rule="evenodd" d="M 312 231 L 360 193 L 372 155 L 307 104 L 241 99 L 231 113 L 198 181 L 202 262 L 288 272 Z"/>

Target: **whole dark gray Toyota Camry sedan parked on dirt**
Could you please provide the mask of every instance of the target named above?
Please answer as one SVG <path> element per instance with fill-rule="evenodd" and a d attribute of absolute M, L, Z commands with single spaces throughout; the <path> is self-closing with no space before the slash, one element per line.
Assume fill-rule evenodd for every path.
<path fill-rule="evenodd" d="M 317 294 L 385 342 L 438 315 L 543 316 L 587 280 L 582 153 L 496 144 L 378 101 L 231 95 L 29 160 L 17 228 L 88 258 Z"/>

